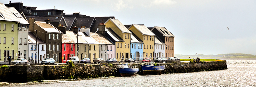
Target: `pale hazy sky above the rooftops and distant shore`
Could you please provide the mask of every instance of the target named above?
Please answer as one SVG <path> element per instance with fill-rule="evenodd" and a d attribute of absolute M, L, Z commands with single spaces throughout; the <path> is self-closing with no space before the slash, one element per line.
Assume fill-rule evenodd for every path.
<path fill-rule="evenodd" d="M 176 36 L 174 54 L 256 55 L 255 0 L 23 0 L 23 6 L 165 27 Z"/>

